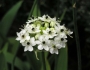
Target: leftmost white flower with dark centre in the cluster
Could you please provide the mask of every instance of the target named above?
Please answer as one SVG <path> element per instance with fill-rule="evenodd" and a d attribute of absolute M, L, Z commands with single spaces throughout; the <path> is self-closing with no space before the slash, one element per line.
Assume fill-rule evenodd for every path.
<path fill-rule="evenodd" d="M 29 40 L 30 36 L 29 34 L 26 32 L 26 30 L 22 30 L 19 33 L 17 32 L 17 38 L 16 40 L 20 40 L 20 43 L 24 42 L 25 40 Z"/>

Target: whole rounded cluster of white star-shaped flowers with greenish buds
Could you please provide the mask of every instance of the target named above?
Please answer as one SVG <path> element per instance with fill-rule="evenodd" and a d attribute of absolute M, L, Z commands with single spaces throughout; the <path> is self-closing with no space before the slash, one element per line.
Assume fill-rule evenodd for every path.
<path fill-rule="evenodd" d="M 24 51 L 45 50 L 58 54 L 58 49 L 65 48 L 67 35 L 73 33 L 48 15 L 33 17 L 26 23 L 16 38 L 25 46 Z"/>

